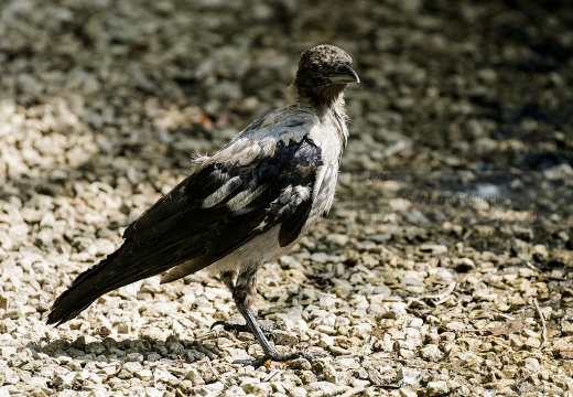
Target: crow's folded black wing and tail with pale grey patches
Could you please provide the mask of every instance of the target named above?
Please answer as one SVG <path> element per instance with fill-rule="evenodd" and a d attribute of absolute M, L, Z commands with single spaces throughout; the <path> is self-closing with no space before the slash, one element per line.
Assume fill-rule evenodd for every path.
<path fill-rule="evenodd" d="M 123 245 L 57 298 L 47 323 L 66 322 L 101 294 L 190 259 L 201 259 L 199 270 L 279 224 L 280 245 L 294 242 L 312 206 L 321 149 L 304 137 L 279 140 L 247 164 L 238 158 L 199 169 L 131 224 Z"/>

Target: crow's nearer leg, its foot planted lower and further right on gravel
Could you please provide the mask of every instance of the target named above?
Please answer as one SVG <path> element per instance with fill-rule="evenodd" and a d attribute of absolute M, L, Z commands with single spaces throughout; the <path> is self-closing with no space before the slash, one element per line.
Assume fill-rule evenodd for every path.
<path fill-rule="evenodd" d="M 225 281 L 225 275 L 223 275 L 224 282 L 229 286 L 228 281 Z M 281 354 L 277 352 L 277 350 L 271 345 L 269 342 L 266 331 L 263 328 L 260 326 L 260 324 L 255 319 L 255 315 L 252 314 L 252 311 L 248 307 L 249 298 L 255 292 L 255 288 L 257 285 L 257 266 L 252 265 L 249 267 L 246 267 L 241 270 L 239 276 L 237 277 L 236 285 L 230 283 L 233 287 L 233 299 L 235 300 L 235 304 L 237 305 L 237 309 L 239 310 L 239 313 L 244 316 L 245 321 L 247 322 L 246 326 L 250 330 L 250 332 L 255 335 L 257 341 L 262 347 L 262 351 L 264 352 L 264 355 L 257 360 L 238 360 L 235 362 L 235 364 L 242 364 L 242 365 L 252 365 L 253 367 L 258 368 L 268 361 L 274 361 L 274 362 L 288 362 L 291 360 L 296 360 L 300 357 L 306 358 L 309 361 L 312 360 L 311 355 L 305 354 L 303 352 L 292 352 L 286 354 Z"/>

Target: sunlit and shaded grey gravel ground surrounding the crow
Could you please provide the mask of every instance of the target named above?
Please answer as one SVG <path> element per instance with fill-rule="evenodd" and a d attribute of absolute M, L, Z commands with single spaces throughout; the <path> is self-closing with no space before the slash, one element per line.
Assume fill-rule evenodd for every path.
<path fill-rule="evenodd" d="M 543 7 L 539 4 L 543 4 Z M 521 0 L 0 2 L 0 397 L 571 396 L 573 11 Z M 569 28 L 567 28 L 569 26 Z M 302 50 L 355 58 L 337 202 L 260 272 L 55 297 L 257 115 Z"/>

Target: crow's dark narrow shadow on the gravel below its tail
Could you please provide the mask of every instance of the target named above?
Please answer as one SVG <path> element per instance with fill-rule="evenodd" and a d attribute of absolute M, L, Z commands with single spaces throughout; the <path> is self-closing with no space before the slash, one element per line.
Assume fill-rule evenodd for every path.
<path fill-rule="evenodd" d="M 36 353 L 43 353 L 54 358 L 69 357 L 80 362 L 154 362 L 162 358 L 177 362 L 194 363 L 215 360 L 221 352 L 199 341 L 181 340 L 177 336 L 160 339 L 123 339 L 107 336 L 101 341 L 86 342 L 85 336 L 75 341 L 58 339 L 48 343 L 30 342 L 26 347 Z"/>

